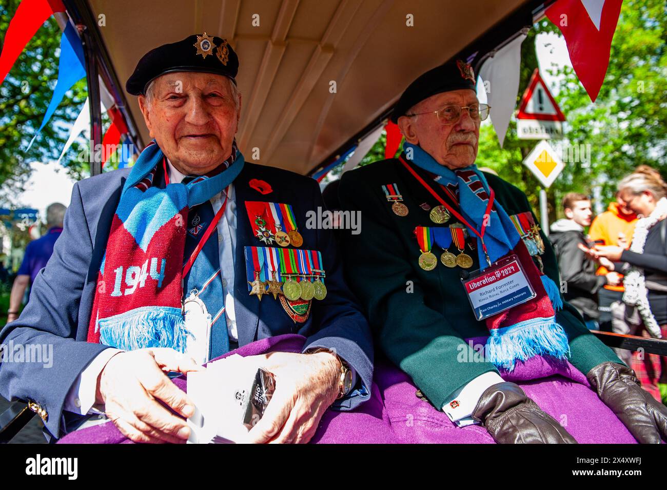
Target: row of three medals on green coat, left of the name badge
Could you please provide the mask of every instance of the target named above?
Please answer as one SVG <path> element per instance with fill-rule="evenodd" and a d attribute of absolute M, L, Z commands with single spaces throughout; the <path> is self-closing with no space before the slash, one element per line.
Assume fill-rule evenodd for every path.
<path fill-rule="evenodd" d="M 468 232 L 460 223 L 454 223 L 449 227 L 431 228 L 426 226 L 418 226 L 414 233 L 419 243 L 422 255 L 419 257 L 419 266 L 425 271 L 432 271 L 438 265 L 438 259 L 432 253 L 433 245 L 438 245 L 444 250 L 440 255 L 440 262 L 446 267 L 462 267 L 462 269 L 470 269 L 473 261 L 472 257 L 465 253 L 466 237 Z M 452 243 L 458 249 L 458 255 L 450 252 Z M 468 244 L 470 250 L 473 250 L 472 245 Z"/>

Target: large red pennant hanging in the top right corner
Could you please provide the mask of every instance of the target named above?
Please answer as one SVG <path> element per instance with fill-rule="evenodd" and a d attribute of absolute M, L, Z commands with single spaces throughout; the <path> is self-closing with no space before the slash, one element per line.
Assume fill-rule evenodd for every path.
<path fill-rule="evenodd" d="M 598 98 L 622 0 L 558 0 L 546 16 L 565 37 L 572 67 L 592 101 Z"/>

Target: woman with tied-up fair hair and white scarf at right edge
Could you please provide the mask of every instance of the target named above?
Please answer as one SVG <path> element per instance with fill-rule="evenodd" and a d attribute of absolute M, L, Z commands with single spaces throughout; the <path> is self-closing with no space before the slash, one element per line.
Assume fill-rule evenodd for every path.
<path fill-rule="evenodd" d="M 660 173 L 640 165 L 618 183 L 618 197 L 640 219 L 630 249 L 596 245 L 589 253 L 605 257 L 625 274 L 625 319 L 634 335 L 667 338 L 667 184 Z M 632 369 L 642 387 L 656 399 L 667 401 L 667 357 L 635 352 Z"/>

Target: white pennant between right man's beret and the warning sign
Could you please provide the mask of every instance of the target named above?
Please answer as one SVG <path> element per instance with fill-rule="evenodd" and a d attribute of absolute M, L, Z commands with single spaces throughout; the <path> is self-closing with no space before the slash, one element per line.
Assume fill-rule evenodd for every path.
<path fill-rule="evenodd" d="M 505 135 L 510 125 L 516 94 L 519 91 L 521 67 L 521 43 L 525 34 L 519 35 L 508 45 L 502 47 L 494 57 L 484 61 L 480 77 L 484 88 L 488 85 L 488 103 L 491 106 L 491 123 L 494 125 L 500 147 L 505 143 Z"/>

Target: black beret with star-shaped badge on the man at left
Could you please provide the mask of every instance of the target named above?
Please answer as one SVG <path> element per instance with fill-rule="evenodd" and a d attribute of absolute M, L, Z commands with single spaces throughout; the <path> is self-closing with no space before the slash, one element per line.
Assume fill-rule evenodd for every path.
<path fill-rule="evenodd" d="M 132 95 L 145 94 L 150 81 L 173 71 L 201 71 L 229 77 L 236 83 L 239 57 L 226 39 L 194 34 L 177 43 L 151 49 L 137 63 L 125 89 Z"/>

